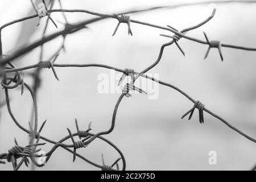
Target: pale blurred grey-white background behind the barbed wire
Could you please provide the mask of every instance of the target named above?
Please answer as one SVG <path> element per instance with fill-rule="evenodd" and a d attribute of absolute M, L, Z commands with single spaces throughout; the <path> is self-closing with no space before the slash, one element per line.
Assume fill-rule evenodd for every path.
<path fill-rule="evenodd" d="M 64 9 L 86 9 L 113 14 L 131 9 L 194 3 L 196 1 L 98 1 L 63 0 Z M 201 1 L 200 1 L 201 2 Z M 209 39 L 222 43 L 256 47 L 256 3 L 210 3 L 207 5 L 182 6 L 131 14 L 132 19 L 182 30 L 206 19 L 217 7 L 216 16 L 204 26 L 187 35 L 204 40 L 203 31 Z M 55 9 L 59 9 L 56 3 Z M 0 24 L 34 14 L 28 0 L 0 2 Z M 69 23 L 80 22 L 93 16 L 83 13 L 67 13 Z M 51 14 L 54 20 L 64 22 L 61 13 Z M 2 31 L 3 53 L 8 54 L 26 44 L 40 39 L 46 18 L 27 20 L 9 26 Z M 64 28 L 57 23 L 59 30 Z M 162 44 L 170 41 L 159 34 L 169 34 L 156 28 L 131 24 L 133 36 L 127 35 L 127 25 L 121 24 L 112 37 L 117 20 L 105 19 L 89 25 L 89 28 L 69 35 L 65 42 L 66 52 L 61 52 L 57 63 L 99 63 L 118 68 L 142 71 L 152 64 Z M 57 31 L 49 23 L 47 35 Z M 61 38 L 44 46 L 43 58 L 47 60 L 61 45 Z M 174 45 L 167 47 L 162 60 L 148 73 L 158 73 L 159 80 L 170 82 L 203 102 L 214 113 L 225 118 L 245 133 L 256 137 L 256 52 L 222 48 L 221 62 L 217 49 L 211 49 L 204 60 L 208 46 L 181 39 L 180 46 L 185 57 Z M 16 60 L 16 67 L 38 63 L 40 49 Z M 28 71 L 31 72 L 31 71 Z M 56 81 L 49 69 L 41 73 L 42 86 L 38 92 L 39 125 L 47 119 L 42 135 L 59 140 L 66 136 L 67 127 L 76 131 L 75 118 L 81 129 L 92 121 L 93 133 L 110 127 L 115 103 L 119 94 L 97 92 L 100 73 L 109 74 L 104 68 L 56 68 L 60 81 Z M 25 77 L 31 84 L 31 78 Z M 0 90 L 0 101 L 4 100 Z M 11 106 L 18 121 L 25 127 L 31 117 L 32 100 L 26 91 L 10 90 Z M 118 109 L 116 126 L 105 136 L 117 145 L 125 155 L 128 170 L 248 170 L 256 163 L 256 145 L 224 123 L 205 113 L 205 124 L 199 123 L 195 111 L 191 121 L 181 120 L 193 104 L 166 86 L 159 86 L 159 98 L 148 100 L 142 94 L 124 98 Z M 21 146 L 28 143 L 27 134 L 14 125 L 6 106 L 1 109 L 0 152 L 14 146 L 14 137 Z M 70 143 L 68 141 L 68 143 Z M 41 147 L 48 151 L 51 144 Z M 217 152 L 217 165 L 209 165 L 209 151 Z M 86 150 L 78 152 L 101 164 L 101 154 L 106 164 L 112 164 L 119 156 L 112 147 L 96 140 Z M 1 165 L 0 170 L 12 169 L 11 164 Z M 30 168 L 22 167 L 23 170 Z M 79 158 L 72 162 L 72 154 L 59 148 L 44 168 L 38 170 L 97 170 Z"/>

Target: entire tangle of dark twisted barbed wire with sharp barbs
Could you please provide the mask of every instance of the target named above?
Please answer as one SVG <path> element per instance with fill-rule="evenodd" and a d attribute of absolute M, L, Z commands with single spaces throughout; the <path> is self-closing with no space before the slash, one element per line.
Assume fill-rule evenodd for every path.
<path fill-rule="evenodd" d="M 224 1 L 222 1 L 222 2 L 224 2 Z M 230 2 L 230 1 L 225 1 L 225 2 Z M 160 9 L 160 8 L 164 8 L 166 6 L 155 7 L 155 8 L 152 8 L 152 9 L 137 10 L 137 11 L 126 11 L 124 13 L 108 15 L 108 14 L 95 13 L 93 11 L 88 11 L 88 10 L 66 10 L 66 9 L 62 8 L 61 1 L 59 1 L 59 5 L 60 5 L 61 9 L 52 9 L 52 7 L 53 7 L 53 2 L 52 2 L 51 7 L 49 8 L 49 10 L 47 9 L 48 18 L 47 18 L 46 26 L 44 27 L 44 30 L 43 30 L 42 39 L 37 40 L 36 42 L 30 44 L 27 47 L 20 48 L 17 51 L 11 53 L 10 55 L 3 55 L 2 40 L 1 40 L 1 34 L 2 34 L 3 28 L 11 26 L 12 24 L 15 24 L 15 23 L 23 22 L 24 20 L 36 18 L 39 15 L 35 14 L 35 15 L 26 16 L 24 18 L 20 18 L 18 20 L 14 20 L 12 22 L 6 23 L 6 24 L 4 24 L 3 26 L 0 27 L 0 56 L 1 56 L 0 57 L 0 68 L 1 68 L 0 69 L 0 76 L 2 77 L 1 85 L 2 85 L 3 89 L 5 90 L 7 110 L 10 114 L 10 117 L 13 119 L 14 123 L 16 124 L 16 126 L 18 126 L 21 130 L 23 130 L 25 133 L 27 133 L 30 136 L 30 141 L 25 147 L 19 146 L 18 142 L 16 142 L 16 140 L 15 140 L 15 146 L 13 148 L 11 148 L 7 153 L 0 154 L 0 163 L 1 164 L 5 163 L 5 161 L 3 161 L 3 160 L 7 160 L 7 162 L 11 162 L 13 164 L 14 170 L 18 170 L 22 166 L 23 163 L 25 163 L 26 166 L 28 166 L 28 163 L 31 160 L 32 164 L 34 164 L 35 166 L 43 167 L 48 162 L 48 160 L 51 158 L 53 153 L 57 150 L 57 148 L 62 147 L 65 150 L 67 150 L 68 152 L 71 152 L 73 154 L 73 162 L 75 162 L 76 157 L 79 157 L 80 159 L 84 160 L 85 162 L 88 162 L 89 164 L 91 164 L 95 167 L 101 168 L 102 170 L 108 170 L 109 171 L 109 170 L 115 170 L 113 168 L 114 166 L 116 166 L 117 170 L 118 170 L 119 169 L 118 162 L 119 162 L 119 160 L 122 160 L 122 170 L 125 170 L 126 169 L 126 161 L 125 161 L 125 157 L 123 156 L 121 150 L 119 150 L 119 148 L 117 146 L 115 146 L 112 142 L 110 142 L 108 139 L 103 138 L 102 135 L 110 134 L 114 130 L 118 107 L 119 107 L 119 105 L 120 105 L 124 96 L 131 97 L 131 93 L 129 93 L 131 90 L 136 90 L 140 93 L 147 94 L 146 92 L 144 92 L 144 90 L 134 86 L 134 82 L 139 77 L 144 77 L 144 78 L 147 78 L 148 80 L 152 80 L 152 81 L 158 82 L 161 85 L 168 86 L 172 89 L 175 89 L 175 90 L 177 90 L 177 92 L 179 92 L 179 93 L 183 94 L 183 96 L 187 97 L 188 100 L 193 102 L 194 105 L 193 105 L 192 109 L 189 110 L 187 113 L 185 113 L 181 118 L 184 118 L 186 115 L 188 115 L 190 113 L 189 119 L 191 119 L 194 110 L 198 109 L 199 110 L 199 121 L 200 121 L 200 123 L 204 123 L 203 111 L 205 111 L 208 114 L 210 114 L 213 117 L 220 120 L 221 122 L 225 123 L 225 125 L 230 127 L 230 129 L 232 129 L 232 130 L 236 131 L 237 133 L 241 134 L 243 137 L 245 137 L 245 138 L 247 138 L 247 139 L 249 139 L 253 142 L 256 142 L 256 139 L 254 139 L 253 137 L 250 137 L 249 135 L 243 133 L 241 130 L 239 130 L 236 127 L 234 127 L 233 125 L 231 125 L 225 119 L 221 118 L 217 114 L 214 114 L 212 111 L 206 109 L 206 107 L 200 101 L 194 100 L 191 96 L 189 96 L 183 90 L 179 89 L 177 86 L 174 86 L 174 85 L 169 84 L 167 82 L 156 80 L 154 77 L 150 77 L 150 76 L 146 75 L 146 73 L 148 71 L 150 71 L 152 68 L 154 68 L 157 64 L 160 63 L 160 60 L 162 59 L 162 55 L 163 55 L 163 52 L 164 52 L 164 48 L 166 48 L 168 46 L 171 46 L 173 43 L 175 43 L 176 46 L 180 49 L 181 53 L 183 53 L 183 55 L 185 55 L 185 52 L 183 51 L 183 49 L 177 43 L 181 38 L 192 40 L 193 42 L 197 42 L 197 43 L 200 43 L 200 44 L 208 45 L 209 47 L 208 47 L 207 53 L 205 55 L 205 58 L 208 56 L 210 48 L 218 48 L 218 51 L 219 51 L 220 56 L 221 56 L 221 60 L 223 60 L 222 51 L 221 51 L 222 47 L 243 49 L 243 50 L 246 50 L 246 51 L 256 51 L 256 48 L 249 48 L 249 47 L 243 47 L 243 46 L 234 46 L 234 45 L 231 45 L 231 44 L 223 44 L 219 40 L 209 41 L 205 32 L 204 32 L 204 35 L 205 35 L 206 41 L 196 39 L 196 38 L 192 38 L 191 36 L 187 36 L 189 31 L 195 30 L 196 28 L 199 28 L 199 27 L 203 26 L 205 23 L 209 22 L 209 20 L 211 20 L 213 18 L 213 16 L 216 14 L 216 9 L 214 9 L 212 14 L 207 19 L 205 19 L 203 22 L 201 22 L 199 24 L 196 24 L 193 27 L 185 28 L 184 30 L 178 31 L 178 30 L 176 30 L 176 28 L 174 28 L 172 26 L 162 27 L 162 26 L 158 26 L 158 25 L 155 25 L 155 24 L 147 23 L 147 22 L 141 22 L 139 20 L 131 19 L 129 15 L 126 15 L 126 14 L 139 13 L 139 12 L 148 11 L 148 10 Z M 46 6 L 46 8 L 47 8 L 47 6 Z M 51 19 L 50 16 L 49 16 L 51 13 L 62 13 L 63 14 L 63 17 L 65 19 L 65 23 L 64 23 L 65 28 L 64 28 L 64 30 L 61 30 L 61 31 L 58 31 L 58 32 L 55 32 L 51 35 L 46 36 L 45 34 L 46 34 L 46 29 L 47 29 L 47 26 L 48 26 L 49 19 L 52 22 L 54 22 L 54 20 Z M 84 22 L 81 22 L 81 23 L 69 24 L 68 20 L 67 20 L 67 17 L 65 16 L 64 13 L 87 13 L 87 14 L 92 14 L 92 15 L 99 16 L 99 18 L 93 18 L 93 19 L 85 20 Z M 158 58 L 156 59 L 156 61 L 154 63 L 152 63 L 150 66 L 148 66 L 147 68 L 145 68 L 141 72 L 135 72 L 134 69 L 115 68 L 115 67 L 112 67 L 110 65 L 104 65 L 104 64 L 56 64 L 55 63 L 55 61 L 57 60 L 57 57 L 59 55 L 59 52 L 64 49 L 65 37 L 67 35 L 73 34 L 77 31 L 80 31 L 80 30 L 86 28 L 88 26 L 88 24 L 98 22 L 99 20 L 103 20 L 103 19 L 106 19 L 106 18 L 113 18 L 113 19 L 118 20 L 118 25 L 115 28 L 113 35 L 115 35 L 115 32 L 117 32 L 117 29 L 118 29 L 120 23 L 126 23 L 127 24 L 128 34 L 130 34 L 130 35 L 133 35 L 133 33 L 131 31 L 131 23 L 137 23 L 137 24 L 142 24 L 144 26 L 158 28 L 160 30 L 165 30 L 165 31 L 168 31 L 168 32 L 172 32 L 174 35 L 160 34 L 161 36 L 171 38 L 172 40 L 171 40 L 171 42 L 165 43 L 161 46 L 160 52 L 159 52 L 159 55 L 158 55 Z M 47 61 L 43 61 L 43 45 L 45 43 L 59 37 L 59 36 L 63 36 L 63 43 L 61 44 L 60 48 L 57 49 L 57 52 L 53 56 L 51 56 L 51 59 L 49 59 Z M 32 64 L 32 65 L 27 65 L 25 67 L 16 68 L 14 63 L 13 63 L 14 59 L 18 58 L 19 56 L 24 55 L 27 52 L 32 51 L 36 47 L 41 47 L 41 51 L 40 51 L 40 55 L 39 55 L 39 62 L 37 64 Z M 108 129 L 106 131 L 101 131 L 101 132 L 96 133 L 96 134 L 93 134 L 93 133 L 91 133 L 91 131 L 92 131 L 91 123 L 89 123 L 88 129 L 80 130 L 79 129 L 79 124 L 76 120 L 75 124 L 76 124 L 77 133 L 72 133 L 71 130 L 67 129 L 68 130 L 68 135 L 66 137 L 60 139 L 57 142 L 54 141 L 54 140 L 51 140 L 47 137 L 44 137 L 41 134 L 41 131 L 43 130 L 43 127 L 46 124 L 46 121 L 43 122 L 42 126 L 38 130 L 38 108 L 37 108 L 37 102 L 36 102 L 36 90 L 38 90 L 39 86 L 40 86 L 39 83 L 40 83 L 41 78 L 39 77 L 39 73 L 43 68 L 50 68 L 50 69 L 52 69 L 53 76 L 55 76 L 55 78 L 57 80 L 59 80 L 59 77 L 57 76 L 57 73 L 55 71 L 55 67 L 61 67 L 61 68 L 64 68 L 64 67 L 81 67 L 81 68 L 101 67 L 101 68 L 106 68 L 106 69 L 113 69 L 114 71 L 123 73 L 123 76 L 119 80 L 118 85 L 123 81 L 125 76 L 131 76 L 132 81 L 125 85 L 125 88 L 123 88 L 121 96 L 119 96 L 118 101 L 115 104 L 110 129 Z M 22 75 L 24 74 L 23 73 L 24 71 L 27 71 L 29 69 L 34 69 L 34 68 L 36 68 L 36 71 L 34 72 L 34 74 L 31 75 L 34 78 L 34 86 L 33 86 L 33 89 L 32 89 L 31 86 L 28 85 L 23 80 Z M 15 74 L 14 74 L 14 76 L 13 75 L 8 76 L 8 73 L 15 73 Z M 13 85 L 11 85 L 12 83 L 13 83 Z M 24 88 L 26 88 L 28 90 L 28 92 L 30 92 L 31 97 L 32 97 L 33 117 L 34 117 L 34 119 L 32 119 L 32 120 L 34 122 L 29 123 L 29 126 L 30 126 L 29 130 L 26 129 L 24 126 L 20 125 L 20 123 L 15 118 L 15 116 L 13 114 L 13 111 L 11 109 L 10 98 L 9 98 L 9 90 L 18 88 L 18 86 L 22 87 L 22 93 L 23 93 Z M 80 140 L 75 140 L 75 137 L 79 137 Z M 90 161 L 89 159 L 84 158 L 84 156 L 77 153 L 77 150 L 79 150 L 79 148 L 86 148 L 96 138 L 101 139 L 102 141 L 104 141 L 107 144 L 109 144 L 110 146 L 112 146 L 114 148 L 114 150 L 117 151 L 118 154 L 120 155 L 120 158 L 118 158 L 112 165 L 108 166 L 108 165 L 105 164 L 103 154 L 102 154 L 102 165 L 100 165 L 100 164 L 96 164 L 96 163 Z M 43 146 L 44 144 L 46 144 L 46 143 L 39 143 L 40 140 L 44 140 L 45 142 L 53 144 L 53 147 L 51 148 L 51 150 L 49 150 L 46 153 L 46 155 L 45 155 L 46 160 L 45 160 L 45 163 L 43 163 L 43 164 L 38 164 L 35 160 L 35 158 L 42 158 L 42 155 L 37 154 L 40 151 L 40 149 L 36 150 L 36 147 L 37 146 Z M 66 140 L 71 140 L 72 144 L 64 144 L 64 142 Z M 73 148 L 73 150 L 71 150 L 71 148 Z M 19 163 L 17 163 L 18 159 L 21 159 L 19 161 Z"/>

